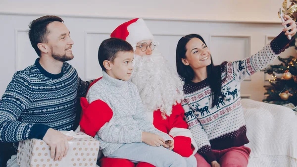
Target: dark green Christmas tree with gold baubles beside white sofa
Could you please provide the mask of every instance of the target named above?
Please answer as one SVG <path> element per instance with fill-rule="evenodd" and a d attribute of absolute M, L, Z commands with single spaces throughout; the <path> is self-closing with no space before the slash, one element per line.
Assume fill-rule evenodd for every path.
<path fill-rule="evenodd" d="M 295 37 L 296 38 L 296 37 Z M 295 46 L 295 40 L 288 47 Z M 278 56 L 281 64 L 268 65 L 263 71 L 272 75 L 269 79 L 270 85 L 265 85 L 267 92 L 263 102 L 276 105 L 283 105 L 296 110 L 297 106 L 297 57 L 288 56 L 282 58 Z"/>

